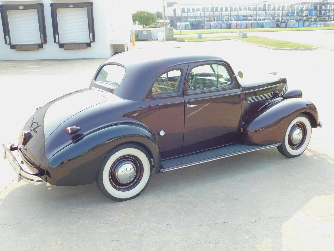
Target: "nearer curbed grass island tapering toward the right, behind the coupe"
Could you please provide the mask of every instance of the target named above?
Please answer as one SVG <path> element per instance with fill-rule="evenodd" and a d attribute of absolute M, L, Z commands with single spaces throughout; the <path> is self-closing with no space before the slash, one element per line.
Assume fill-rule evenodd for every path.
<path fill-rule="evenodd" d="M 298 43 L 292 43 L 288 41 L 283 40 L 277 40 L 277 39 L 271 39 L 267 37 L 261 37 L 261 36 L 249 36 L 249 37 L 236 37 L 236 36 L 210 36 L 210 37 L 191 37 L 191 36 L 184 36 L 184 37 L 178 37 L 177 40 L 185 40 L 185 41 L 210 41 L 210 40 L 224 40 L 224 39 L 237 39 L 246 41 L 249 43 L 254 43 L 258 45 L 265 45 L 270 46 L 274 48 L 312 48 L 311 45 L 303 45 Z"/>

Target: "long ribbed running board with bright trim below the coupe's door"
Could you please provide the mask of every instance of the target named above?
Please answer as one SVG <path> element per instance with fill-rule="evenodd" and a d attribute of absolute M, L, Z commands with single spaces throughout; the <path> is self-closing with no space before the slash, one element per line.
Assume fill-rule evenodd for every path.
<path fill-rule="evenodd" d="M 239 155 L 243 153 L 254 152 L 262 149 L 272 148 L 280 146 L 282 143 L 261 145 L 261 146 L 250 146 L 242 144 L 234 144 L 224 147 L 215 148 L 212 150 L 207 150 L 199 153 L 183 155 L 180 157 L 166 159 L 161 161 L 160 172 L 168 172 L 171 170 L 198 165 L 214 160 L 219 160 L 227 158 L 234 155 Z"/>

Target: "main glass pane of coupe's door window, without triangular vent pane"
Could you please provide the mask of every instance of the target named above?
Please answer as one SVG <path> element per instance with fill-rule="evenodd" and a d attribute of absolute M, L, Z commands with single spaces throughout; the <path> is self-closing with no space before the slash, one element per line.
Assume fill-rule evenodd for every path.
<path fill-rule="evenodd" d="M 218 87 L 217 65 L 201 65 L 193 68 L 188 77 L 188 90 Z"/>

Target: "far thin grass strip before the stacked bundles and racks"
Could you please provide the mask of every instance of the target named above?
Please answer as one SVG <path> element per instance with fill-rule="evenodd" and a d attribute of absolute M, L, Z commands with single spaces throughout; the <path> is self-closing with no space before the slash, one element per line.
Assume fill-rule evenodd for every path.
<path fill-rule="evenodd" d="M 256 28 L 256 29 L 241 29 L 241 32 L 266 32 L 266 31 L 296 31 L 296 30 L 332 30 L 334 27 L 303 27 L 303 28 Z M 238 29 L 239 30 L 239 29 Z M 181 30 L 181 34 L 203 34 L 208 33 L 233 33 L 235 29 L 216 29 L 216 30 Z M 179 30 L 174 30 L 174 35 L 179 35 Z"/>

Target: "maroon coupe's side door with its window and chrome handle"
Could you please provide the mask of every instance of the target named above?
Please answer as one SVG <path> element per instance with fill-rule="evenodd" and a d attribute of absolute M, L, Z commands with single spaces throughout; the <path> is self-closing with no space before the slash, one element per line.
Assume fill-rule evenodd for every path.
<path fill-rule="evenodd" d="M 223 62 L 191 63 L 188 69 L 182 154 L 236 142 L 245 100 L 231 69 Z"/>

